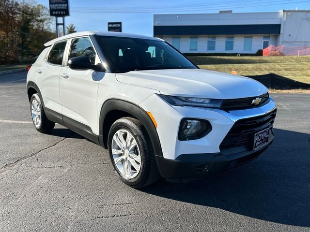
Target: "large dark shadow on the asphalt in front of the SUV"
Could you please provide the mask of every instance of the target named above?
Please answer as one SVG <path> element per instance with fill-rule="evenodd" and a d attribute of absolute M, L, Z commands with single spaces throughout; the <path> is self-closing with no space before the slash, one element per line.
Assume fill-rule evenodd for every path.
<path fill-rule="evenodd" d="M 189 184 L 160 180 L 142 191 L 270 222 L 310 227 L 310 134 L 280 129 L 275 129 L 275 134 L 266 152 L 231 172 Z"/>

